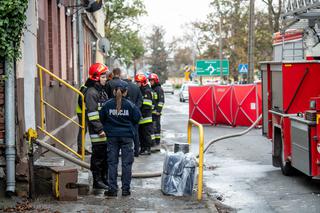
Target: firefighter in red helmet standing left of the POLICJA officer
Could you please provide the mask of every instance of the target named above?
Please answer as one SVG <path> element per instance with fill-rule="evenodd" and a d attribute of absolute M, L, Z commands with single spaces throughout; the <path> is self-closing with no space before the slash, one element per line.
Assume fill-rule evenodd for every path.
<path fill-rule="evenodd" d="M 101 63 L 93 64 L 89 69 L 89 79 L 86 82 L 86 115 L 92 144 L 90 170 L 94 189 L 107 189 L 108 185 L 107 138 L 99 117 L 99 110 L 108 99 L 104 89 L 107 71 L 107 66 Z"/>

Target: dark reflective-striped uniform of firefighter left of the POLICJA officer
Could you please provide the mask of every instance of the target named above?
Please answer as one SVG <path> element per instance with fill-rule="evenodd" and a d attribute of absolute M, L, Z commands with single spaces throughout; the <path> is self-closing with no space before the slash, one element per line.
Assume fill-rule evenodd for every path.
<path fill-rule="evenodd" d="M 99 136 L 99 133 L 103 131 L 99 110 L 107 99 L 108 96 L 105 90 L 98 83 L 88 87 L 85 94 L 88 130 L 92 144 L 90 170 L 93 176 L 94 188 L 102 188 L 100 187 L 101 182 L 105 185 L 108 184 L 107 138 Z"/>

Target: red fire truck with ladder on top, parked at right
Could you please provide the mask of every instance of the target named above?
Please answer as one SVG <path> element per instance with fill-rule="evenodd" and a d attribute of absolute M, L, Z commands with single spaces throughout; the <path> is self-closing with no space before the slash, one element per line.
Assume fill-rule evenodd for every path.
<path fill-rule="evenodd" d="M 290 30 L 274 35 L 274 60 L 261 62 L 263 134 L 272 162 L 320 176 L 320 1 L 285 1 Z M 297 26 L 296 29 L 294 29 Z M 294 30 L 292 30 L 294 29 Z"/>

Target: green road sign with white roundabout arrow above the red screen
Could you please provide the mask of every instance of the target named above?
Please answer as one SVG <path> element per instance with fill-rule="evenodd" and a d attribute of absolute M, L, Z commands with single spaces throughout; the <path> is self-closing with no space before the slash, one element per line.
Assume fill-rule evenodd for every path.
<path fill-rule="evenodd" d="M 222 74 L 229 75 L 229 61 L 222 60 Z M 196 72 L 198 76 L 220 76 L 220 60 L 198 60 L 196 61 Z"/>

